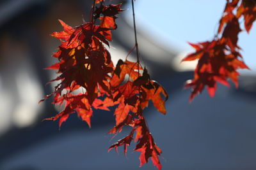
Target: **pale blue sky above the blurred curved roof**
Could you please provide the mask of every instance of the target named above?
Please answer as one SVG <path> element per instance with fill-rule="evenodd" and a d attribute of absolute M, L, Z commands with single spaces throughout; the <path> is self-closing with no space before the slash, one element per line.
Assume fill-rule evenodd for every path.
<path fill-rule="evenodd" d="M 225 1 L 137 0 L 135 5 L 136 21 L 138 27 L 143 28 L 141 31 L 152 34 L 152 38 L 159 37 L 159 41 L 164 39 L 166 46 L 189 51 L 193 49 L 187 42 L 197 43 L 210 41 L 213 38 L 218 29 L 218 21 L 225 7 Z M 128 11 L 127 15 L 131 16 L 132 10 Z M 239 34 L 238 45 L 243 49 L 241 53 L 246 64 L 255 70 L 256 23 L 249 35 L 245 31 Z"/>

